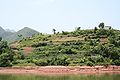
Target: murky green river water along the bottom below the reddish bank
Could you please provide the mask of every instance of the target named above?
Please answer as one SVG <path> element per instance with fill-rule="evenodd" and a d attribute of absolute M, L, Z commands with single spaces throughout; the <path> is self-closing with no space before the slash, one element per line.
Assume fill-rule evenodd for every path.
<path fill-rule="evenodd" d="M 120 80 L 120 74 L 48 76 L 33 74 L 0 74 L 0 80 Z"/>

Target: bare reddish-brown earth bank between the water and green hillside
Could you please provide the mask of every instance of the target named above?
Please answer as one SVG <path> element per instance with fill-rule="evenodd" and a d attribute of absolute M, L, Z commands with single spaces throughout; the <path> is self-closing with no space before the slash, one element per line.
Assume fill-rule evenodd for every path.
<path fill-rule="evenodd" d="M 41 67 L 6 67 L 0 68 L 0 74 L 120 74 L 120 66 L 41 66 Z"/>

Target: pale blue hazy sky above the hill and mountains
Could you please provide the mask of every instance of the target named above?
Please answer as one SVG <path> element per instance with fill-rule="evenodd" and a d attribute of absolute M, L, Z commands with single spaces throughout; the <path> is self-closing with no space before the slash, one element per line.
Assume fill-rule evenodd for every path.
<path fill-rule="evenodd" d="M 120 29 L 120 0 L 0 0 L 0 26 L 42 33 L 93 29 L 104 22 Z"/>

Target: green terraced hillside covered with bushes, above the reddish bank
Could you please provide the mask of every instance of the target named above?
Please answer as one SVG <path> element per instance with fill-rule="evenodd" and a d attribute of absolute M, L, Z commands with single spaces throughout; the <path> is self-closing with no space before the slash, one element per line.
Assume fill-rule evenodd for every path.
<path fill-rule="evenodd" d="M 81 30 L 54 34 L 36 34 L 12 43 L 14 51 L 12 65 L 120 65 L 120 31 L 104 23 L 90 30 Z M 21 35 L 19 35 L 21 36 Z M 25 47 L 34 50 L 29 54 Z"/>

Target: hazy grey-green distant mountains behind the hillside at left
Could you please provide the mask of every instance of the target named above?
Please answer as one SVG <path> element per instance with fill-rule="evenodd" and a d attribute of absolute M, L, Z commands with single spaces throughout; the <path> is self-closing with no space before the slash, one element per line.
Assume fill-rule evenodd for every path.
<path fill-rule="evenodd" d="M 9 43 L 21 40 L 26 37 L 31 37 L 35 34 L 38 34 L 39 32 L 36 30 L 33 30 L 29 27 L 24 27 L 23 29 L 13 32 L 13 30 L 4 30 L 2 27 L 0 27 L 0 37 L 3 38 L 3 40 L 8 41 Z"/>

